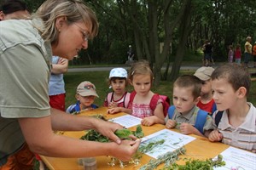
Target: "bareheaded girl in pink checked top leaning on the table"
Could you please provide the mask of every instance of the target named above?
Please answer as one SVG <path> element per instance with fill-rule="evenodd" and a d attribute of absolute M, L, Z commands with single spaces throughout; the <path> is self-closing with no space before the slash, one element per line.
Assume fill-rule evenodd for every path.
<path fill-rule="evenodd" d="M 150 88 L 153 85 L 153 72 L 147 60 L 140 60 L 131 65 L 129 71 L 129 81 L 135 92 L 131 94 L 129 109 L 132 116 L 143 118 L 143 126 L 152 126 L 155 123 L 164 124 L 163 99 L 158 94 L 154 94 Z M 150 101 L 157 98 L 154 110 L 150 107 Z"/>

